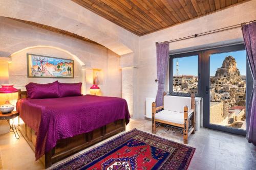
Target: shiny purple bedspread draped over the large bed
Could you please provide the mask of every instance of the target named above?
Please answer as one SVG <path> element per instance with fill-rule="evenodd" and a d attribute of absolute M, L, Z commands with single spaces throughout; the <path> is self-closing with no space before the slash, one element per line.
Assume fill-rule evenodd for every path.
<path fill-rule="evenodd" d="M 55 147 L 57 140 L 87 133 L 130 114 L 121 98 L 82 95 L 55 99 L 22 99 L 20 117 L 36 134 L 35 158 Z"/>

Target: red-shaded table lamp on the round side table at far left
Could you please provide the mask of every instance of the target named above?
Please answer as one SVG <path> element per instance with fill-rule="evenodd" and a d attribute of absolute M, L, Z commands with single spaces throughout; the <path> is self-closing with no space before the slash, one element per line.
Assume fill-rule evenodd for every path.
<path fill-rule="evenodd" d="M 0 111 L 2 113 L 12 112 L 14 105 L 10 101 L 16 99 L 18 99 L 18 90 L 12 84 L 2 84 L 2 88 L 0 88 Z M 3 101 L 5 101 L 4 104 Z"/>

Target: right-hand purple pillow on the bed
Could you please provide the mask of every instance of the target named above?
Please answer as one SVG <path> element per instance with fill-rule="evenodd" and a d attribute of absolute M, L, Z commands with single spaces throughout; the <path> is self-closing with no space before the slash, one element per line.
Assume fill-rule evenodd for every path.
<path fill-rule="evenodd" d="M 82 83 L 59 83 L 59 97 L 79 96 L 82 95 Z"/>

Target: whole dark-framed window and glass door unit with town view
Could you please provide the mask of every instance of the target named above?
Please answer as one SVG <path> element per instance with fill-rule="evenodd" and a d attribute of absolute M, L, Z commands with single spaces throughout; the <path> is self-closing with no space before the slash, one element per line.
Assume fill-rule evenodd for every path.
<path fill-rule="evenodd" d="M 169 91 L 203 99 L 204 127 L 246 135 L 253 79 L 244 44 L 170 55 L 169 64 Z"/>

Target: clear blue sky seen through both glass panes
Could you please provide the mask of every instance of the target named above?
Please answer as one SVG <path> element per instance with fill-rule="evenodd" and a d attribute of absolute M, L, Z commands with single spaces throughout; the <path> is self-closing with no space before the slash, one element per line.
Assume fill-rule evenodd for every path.
<path fill-rule="evenodd" d="M 222 62 L 227 56 L 232 56 L 237 61 L 237 68 L 241 75 L 246 72 L 246 51 L 227 52 L 210 55 L 210 76 L 215 76 L 215 72 L 222 66 Z M 176 61 L 174 59 L 174 75 L 176 75 Z M 178 58 L 179 61 L 179 75 L 198 75 L 198 56 Z"/>

